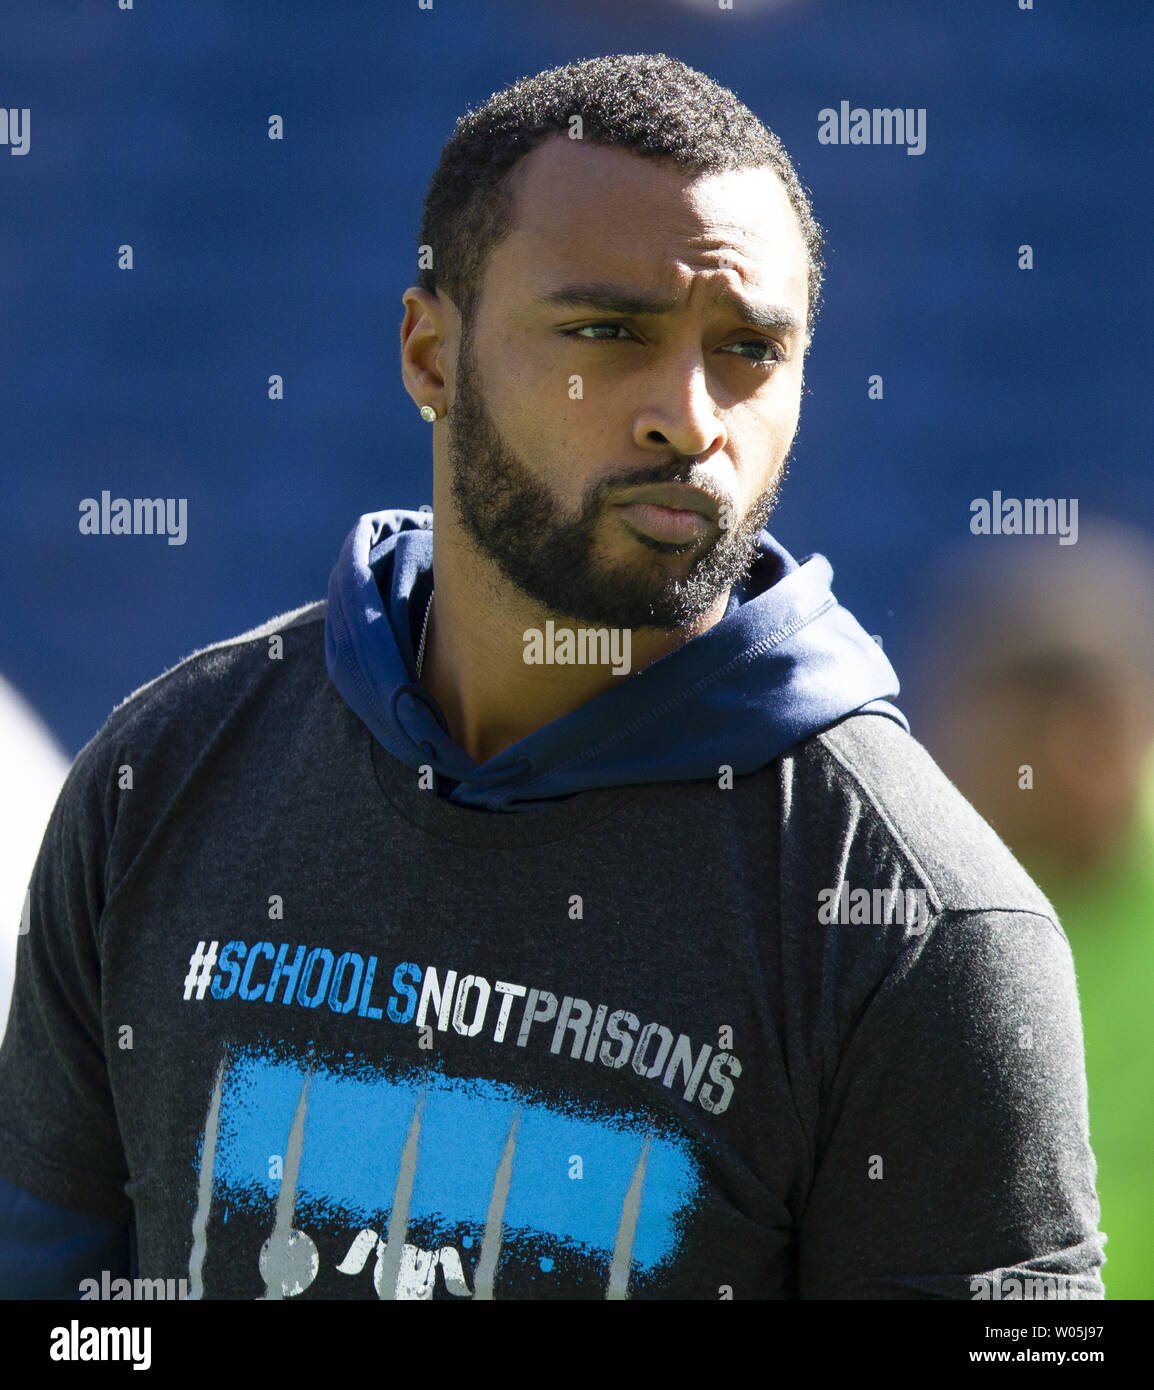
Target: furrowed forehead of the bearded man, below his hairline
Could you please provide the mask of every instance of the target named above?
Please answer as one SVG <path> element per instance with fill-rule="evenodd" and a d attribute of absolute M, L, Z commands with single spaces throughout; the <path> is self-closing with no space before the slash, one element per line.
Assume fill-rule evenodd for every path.
<path fill-rule="evenodd" d="M 535 289 L 577 277 L 669 289 L 687 274 L 731 268 L 804 313 L 805 240 L 769 165 L 695 177 L 665 160 L 555 136 L 517 165 L 513 204 L 513 231 L 491 265 L 498 277 L 513 274 Z"/>

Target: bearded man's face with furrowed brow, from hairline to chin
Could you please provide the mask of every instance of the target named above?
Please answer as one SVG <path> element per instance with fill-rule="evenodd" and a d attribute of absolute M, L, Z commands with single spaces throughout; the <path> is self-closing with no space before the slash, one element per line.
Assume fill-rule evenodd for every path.
<path fill-rule="evenodd" d="M 691 179 L 563 136 L 516 177 L 446 418 L 459 521 L 558 617 L 690 626 L 748 575 L 797 431 L 797 217 L 769 167 Z M 670 482 L 708 516 L 624 510 Z"/>

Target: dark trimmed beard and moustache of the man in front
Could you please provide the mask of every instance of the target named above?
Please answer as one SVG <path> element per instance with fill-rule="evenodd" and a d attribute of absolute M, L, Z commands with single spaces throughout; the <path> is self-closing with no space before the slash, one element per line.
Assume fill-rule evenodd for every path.
<path fill-rule="evenodd" d="M 660 482 L 697 482 L 692 459 L 637 470 L 594 482 L 576 517 L 558 506 L 548 488 L 505 443 L 481 396 L 473 329 L 462 325 L 457 391 L 448 414 L 450 492 L 457 524 L 521 594 L 555 617 L 595 627 L 665 631 L 690 627 L 734 585 L 744 584 L 758 557 L 761 535 L 777 503 L 788 460 L 737 525 L 716 538 L 673 545 L 649 537 L 637 543 L 656 556 L 697 552 L 688 571 L 674 574 L 642 553 L 635 560 L 598 557 L 596 530 L 609 509 L 608 493 Z M 724 503 L 724 498 L 715 500 Z M 729 514 L 733 514 L 729 505 Z M 715 527 L 716 530 L 716 527 Z"/>

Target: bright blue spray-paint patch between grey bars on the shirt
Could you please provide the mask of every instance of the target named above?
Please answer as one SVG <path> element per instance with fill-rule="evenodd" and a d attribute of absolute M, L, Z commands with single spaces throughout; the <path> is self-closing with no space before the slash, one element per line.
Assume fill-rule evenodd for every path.
<path fill-rule="evenodd" d="M 275 1202 L 270 1156 L 284 1155 L 300 1099 L 299 1059 L 234 1055 L 221 1098 L 214 1187 L 232 1205 Z M 484 1232 L 494 1176 L 517 1113 L 513 1175 L 503 1213 L 506 1240 L 612 1257 L 621 1207 L 645 1138 L 633 1265 L 652 1272 L 676 1252 L 701 1179 L 688 1141 L 655 1133 L 652 1118 L 595 1115 L 527 1097 L 496 1081 L 434 1070 L 388 1076 L 375 1068 L 316 1066 L 296 1184 L 296 1207 L 339 1211 L 349 1225 L 382 1229 L 420 1094 L 424 1105 L 409 1226 L 444 1238 Z M 580 1177 L 574 1158 L 580 1158 Z M 541 1259 L 548 1269 L 552 1261 Z"/>

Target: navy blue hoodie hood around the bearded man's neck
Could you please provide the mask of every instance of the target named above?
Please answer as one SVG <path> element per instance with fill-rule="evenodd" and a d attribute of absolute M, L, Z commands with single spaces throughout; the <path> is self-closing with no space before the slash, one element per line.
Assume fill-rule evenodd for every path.
<path fill-rule="evenodd" d="M 833 596 L 829 560 L 798 563 L 767 531 L 758 546 L 720 623 L 477 763 L 416 678 L 432 513 L 370 512 L 330 578 L 328 674 L 388 752 L 456 783 L 449 802 L 484 810 L 533 810 L 601 787 L 716 780 L 723 767 L 756 771 L 855 712 L 909 733 L 890 703 L 894 669 Z"/>

